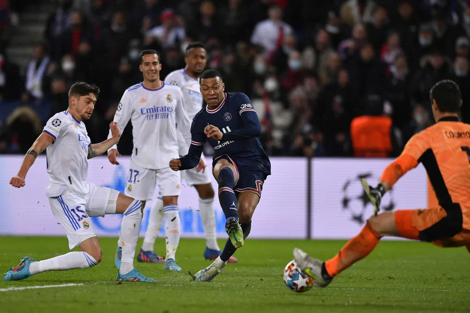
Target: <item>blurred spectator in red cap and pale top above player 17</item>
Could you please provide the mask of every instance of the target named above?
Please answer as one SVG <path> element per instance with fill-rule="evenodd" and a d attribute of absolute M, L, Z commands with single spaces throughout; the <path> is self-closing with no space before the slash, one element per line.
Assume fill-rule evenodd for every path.
<path fill-rule="evenodd" d="M 162 24 L 150 29 L 147 33 L 147 45 L 157 39 L 162 47 L 180 45 L 186 37 L 186 30 L 182 22 L 176 17 L 172 9 L 167 9 L 160 15 Z"/>

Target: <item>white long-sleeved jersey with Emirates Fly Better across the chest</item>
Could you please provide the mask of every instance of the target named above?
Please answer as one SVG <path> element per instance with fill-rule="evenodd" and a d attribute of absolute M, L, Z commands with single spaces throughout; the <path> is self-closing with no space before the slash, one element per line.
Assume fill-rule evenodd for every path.
<path fill-rule="evenodd" d="M 181 89 L 165 83 L 159 89 L 148 89 L 139 83 L 124 91 L 114 121 L 119 123 L 122 134 L 131 120 L 134 137 L 131 159 L 135 164 L 157 170 L 169 167 L 169 161 L 178 157 L 177 127 L 189 149 L 191 121 L 183 105 Z"/>

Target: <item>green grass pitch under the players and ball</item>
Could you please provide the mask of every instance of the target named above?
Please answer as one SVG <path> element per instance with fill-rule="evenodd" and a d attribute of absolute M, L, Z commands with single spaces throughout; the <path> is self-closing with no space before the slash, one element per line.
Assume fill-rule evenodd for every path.
<path fill-rule="evenodd" d="M 293 247 L 325 259 L 344 241 L 248 239 L 235 253 L 239 263 L 229 264 L 210 283 L 194 283 L 188 274 L 209 264 L 202 258 L 203 240 L 181 240 L 177 258 L 183 272 L 136 261 L 136 267 L 156 283 L 118 284 L 116 239 L 101 238 L 100 244 L 103 260 L 94 268 L 40 273 L 19 282 L 1 281 L 0 313 L 470 312 L 470 254 L 463 247 L 384 241 L 329 287 L 297 294 L 282 281 L 282 269 L 292 259 Z M 222 240 L 219 245 L 223 246 Z M 164 242 L 158 240 L 156 247 L 156 252 L 162 253 Z M 40 260 L 67 250 L 65 237 L 0 237 L 0 270 L 6 272 L 25 255 Z M 83 285 L 9 290 L 57 284 Z"/>

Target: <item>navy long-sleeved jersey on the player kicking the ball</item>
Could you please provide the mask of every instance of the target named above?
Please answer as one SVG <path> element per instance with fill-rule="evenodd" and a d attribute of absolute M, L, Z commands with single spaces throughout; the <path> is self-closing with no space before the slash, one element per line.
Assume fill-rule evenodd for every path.
<path fill-rule="evenodd" d="M 223 134 L 220 141 L 208 138 L 204 129 L 217 127 Z M 188 155 L 180 158 L 182 170 L 197 165 L 206 141 L 218 156 L 242 158 L 258 164 L 266 175 L 271 174 L 271 163 L 261 146 L 261 124 L 248 96 L 242 92 L 226 92 L 224 100 L 214 110 L 206 106 L 199 111 L 191 125 L 191 145 Z"/>

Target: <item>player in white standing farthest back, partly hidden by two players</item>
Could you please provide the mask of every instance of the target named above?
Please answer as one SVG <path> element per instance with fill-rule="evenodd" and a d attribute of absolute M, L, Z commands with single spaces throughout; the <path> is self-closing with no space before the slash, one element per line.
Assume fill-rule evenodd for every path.
<path fill-rule="evenodd" d="M 199 90 L 199 75 L 206 67 L 207 53 L 204 44 L 192 43 L 186 48 L 186 67 L 169 73 L 164 81 L 165 84 L 178 86 L 183 92 L 185 99 L 184 108 L 188 117 L 192 120 L 197 112 L 201 111 L 203 99 Z M 179 136 L 179 139 L 181 136 Z M 183 140 L 180 140 L 179 155 L 186 156 L 188 148 Z M 199 214 L 206 236 L 206 249 L 204 258 L 215 260 L 221 253 L 217 245 L 215 236 L 215 216 L 214 216 L 214 189 L 211 184 L 211 171 L 205 170 L 204 156 L 201 156 L 199 165 L 191 170 L 181 172 L 181 178 L 185 179 L 188 185 L 194 186 L 199 195 Z M 159 197 L 154 202 L 150 211 L 149 222 L 142 250 L 153 251 L 155 239 L 162 227 L 164 220 L 163 201 Z M 143 261 L 147 261 L 144 259 Z M 236 259 L 231 257 L 229 262 L 235 263 Z"/>

